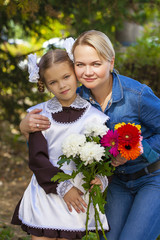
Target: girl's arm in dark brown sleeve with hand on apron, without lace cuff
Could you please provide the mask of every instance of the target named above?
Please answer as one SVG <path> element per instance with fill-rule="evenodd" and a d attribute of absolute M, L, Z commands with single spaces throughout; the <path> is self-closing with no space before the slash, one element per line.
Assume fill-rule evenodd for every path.
<path fill-rule="evenodd" d="M 58 182 L 51 181 L 51 178 L 58 172 L 62 172 L 59 168 L 52 165 L 49 161 L 47 141 L 43 134 L 39 132 L 29 134 L 29 167 L 36 176 L 38 184 L 44 189 L 46 194 L 57 194 Z M 87 207 L 85 201 L 81 197 L 83 193 L 71 186 L 70 190 L 63 196 L 69 211 L 72 207 L 79 213 L 84 212 Z"/>

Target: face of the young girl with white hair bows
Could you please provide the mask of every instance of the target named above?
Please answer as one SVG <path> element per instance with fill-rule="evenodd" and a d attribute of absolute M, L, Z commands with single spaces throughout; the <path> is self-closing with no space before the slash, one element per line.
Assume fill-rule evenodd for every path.
<path fill-rule="evenodd" d="M 77 79 L 67 62 L 54 63 L 44 73 L 45 83 L 62 106 L 70 106 L 76 98 Z"/>

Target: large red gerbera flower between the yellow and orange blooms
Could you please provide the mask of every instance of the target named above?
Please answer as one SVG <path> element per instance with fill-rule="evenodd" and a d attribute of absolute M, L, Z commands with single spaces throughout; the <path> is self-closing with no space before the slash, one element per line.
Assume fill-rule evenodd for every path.
<path fill-rule="evenodd" d="M 140 131 L 136 126 L 126 124 L 117 129 L 118 131 L 118 142 L 123 146 L 135 146 L 140 139 Z"/>

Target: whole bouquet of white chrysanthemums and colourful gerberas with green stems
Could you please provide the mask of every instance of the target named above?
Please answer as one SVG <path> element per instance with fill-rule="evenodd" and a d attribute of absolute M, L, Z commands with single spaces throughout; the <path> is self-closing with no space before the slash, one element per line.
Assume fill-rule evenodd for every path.
<path fill-rule="evenodd" d="M 63 155 L 59 157 L 60 168 L 64 163 L 73 161 L 76 170 L 72 174 L 59 172 L 52 178 L 52 181 L 65 181 L 74 179 L 78 173 L 83 174 L 84 190 L 89 192 L 89 203 L 86 211 L 86 235 L 88 238 L 89 208 L 91 202 L 95 210 L 96 237 L 99 239 L 98 222 L 105 239 L 103 225 L 100 221 L 99 210 L 104 214 L 105 196 L 101 192 L 99 185 L 91 188 L 90 182 L 97 176 L 111 176 L 115 168 L 110 164 L 112 159 L 121 154 L 127 160 L 137 158 L 142 152 L 141 126 L 135 124 L 120 123 L 115 125 L 115 129 L 109 130 L 101 122 L 91 122 L 86 125 L 84 133 L 74 133 L 69 135 L 63 142 Z"/>

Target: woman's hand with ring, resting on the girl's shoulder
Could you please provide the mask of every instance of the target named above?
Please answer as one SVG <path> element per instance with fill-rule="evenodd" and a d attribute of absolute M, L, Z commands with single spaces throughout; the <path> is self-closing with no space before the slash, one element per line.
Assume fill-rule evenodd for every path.
<path fill-rule="evenodd" d="M 30 132 L 38 132 L 46 130 L 50 127 L 50 121 L 47 117 L 40 115 L 42 109 L 34 109 L 22 119 L 20 130 L 28 139 Z"/>

